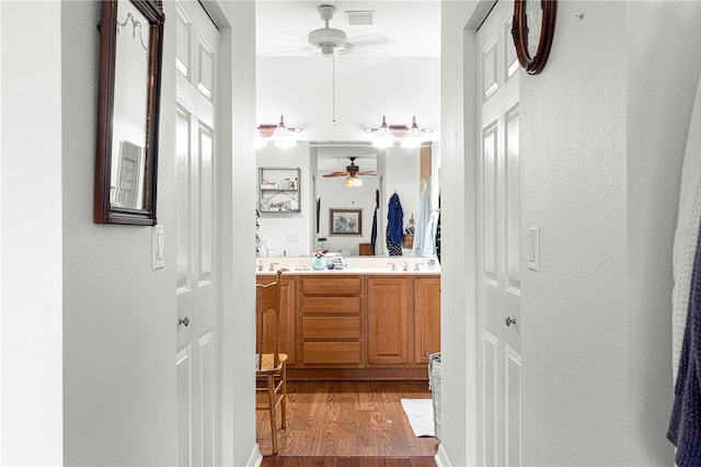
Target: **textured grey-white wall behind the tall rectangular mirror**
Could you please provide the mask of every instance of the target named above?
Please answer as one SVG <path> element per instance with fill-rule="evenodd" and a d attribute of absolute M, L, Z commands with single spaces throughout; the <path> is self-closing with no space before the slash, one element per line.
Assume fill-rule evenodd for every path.
<path fill-rule="evenodd" d="M 97 225 L 90 214 L 100 11 L 100 2 L 61 3 L 65 463 L 172 464 L 174 44 L 165 41 L 160 119 L 157 216 L 165 269 L 152 271 L 151 228 Z"/>

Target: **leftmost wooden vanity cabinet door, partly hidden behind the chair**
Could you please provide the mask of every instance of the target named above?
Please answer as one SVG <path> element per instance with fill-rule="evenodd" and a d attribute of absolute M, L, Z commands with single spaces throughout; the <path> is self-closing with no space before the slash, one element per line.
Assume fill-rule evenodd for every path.
<path fill-rule="evenodd" d="M 258 276 L 258 282 L 266 283 L 275 281 L 275 276 Z M 295 365 L 296 346 L 296 287 L 295 278 L 283 277 L 283 289 L 280 292 L 280 353 L 287 354 L 287 365 Z M 263 350 L 266 353 L 273 352 L 273 329 L 275 329 L 275 314 L 265 315 L 265 334 L 263 335 Z M 260 330 L 258 330 L 260 332 Z"/>

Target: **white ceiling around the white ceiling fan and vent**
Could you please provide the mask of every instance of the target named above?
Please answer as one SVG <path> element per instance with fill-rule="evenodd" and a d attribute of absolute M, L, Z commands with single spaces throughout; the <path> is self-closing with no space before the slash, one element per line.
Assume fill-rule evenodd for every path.
<path fill-rule="evenodd" d="M 353 56 L 440 57 L 440 0 L 429 1 L 256 1 L 256 53 L 266 57 L 312 56 L 310 31 L 324 22 L 317 8 L 336 8 L 330 27 L 345 31 L 348 41 L 382 34 L 387 42 L 355 47 Z M 349 26 L 346 11 L 374 10 L 375 24 Z"/>

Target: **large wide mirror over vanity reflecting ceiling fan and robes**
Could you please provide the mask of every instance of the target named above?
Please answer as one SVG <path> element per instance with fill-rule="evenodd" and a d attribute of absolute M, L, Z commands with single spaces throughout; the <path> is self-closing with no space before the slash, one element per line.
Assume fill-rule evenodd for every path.
<path fill-rule="evenodd" d="M 393 195 L 402 210 L 401 255 L 436 255 L 423 246 L 439 194 L 440 158 L 430 141 L 381 149 L 367 140 L 271 145 L 257 150 L 257 166 L 258 257 L 398 255 L 387 240 Z"/>

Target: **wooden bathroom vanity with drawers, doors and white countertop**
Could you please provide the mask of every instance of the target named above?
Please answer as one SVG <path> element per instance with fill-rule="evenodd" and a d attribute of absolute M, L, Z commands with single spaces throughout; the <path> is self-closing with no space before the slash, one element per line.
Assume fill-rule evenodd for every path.
<path fill-rule="evenodd" d="M 288 377 L 427 379 L 426 352 L 440 349 L 439 270 L 414 271 L 411 261 L 406 271 L 354 262 L 343 271 L 283 273 L 280 351 L 289 355 Z M 273 280 L 268 270 L 257 273 L 261 283 Z"/>

